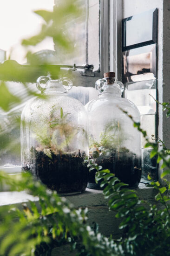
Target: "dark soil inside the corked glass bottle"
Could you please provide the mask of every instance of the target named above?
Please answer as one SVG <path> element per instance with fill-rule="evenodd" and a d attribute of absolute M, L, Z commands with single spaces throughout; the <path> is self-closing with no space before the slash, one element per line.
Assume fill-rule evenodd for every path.
<path fill-rule="evenodd" d="M 90 156 L 92 159 L 92 156 Z M 111 154 L 109 157 L 98 157 L 94 159 L 94 163 L 109 169 L 111 173 L 119 180 L 129 185 L 129 187 L 137 187 L 141 180 L 141 158 L 138 158 L 131 152 L 120 152 L 118 154 Z M 100 183 L 95 183 L 96 170 L 89 173 L 88 186 L 89 188 L 100 189 Z"/>

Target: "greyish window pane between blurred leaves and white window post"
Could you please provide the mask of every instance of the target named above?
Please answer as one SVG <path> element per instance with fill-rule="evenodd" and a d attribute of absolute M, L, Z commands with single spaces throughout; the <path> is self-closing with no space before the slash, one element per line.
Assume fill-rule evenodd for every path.
<path fill-rule="evenodd" d="M 60 0 L 55 0 L 57 3 Z M 66 24 L 68 37 L 74 41 L 74 51 L 65 54 L 57 44 L 56 64 L 82 66 L 85 63 L 93 64 L 94 70 L 99 68 L 99 0 L 78 0 L 81 16 Z"/>

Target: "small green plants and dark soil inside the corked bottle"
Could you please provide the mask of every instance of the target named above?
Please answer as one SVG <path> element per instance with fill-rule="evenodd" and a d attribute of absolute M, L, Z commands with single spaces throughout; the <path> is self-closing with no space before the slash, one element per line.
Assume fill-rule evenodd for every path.
<path fill-rule="evenodd" d="M 129 187 L 137 187 L 141 179 L 141 157 L 124 147 L 123 129 L 119 121 L 111 121 L 100 134 L 99 141 L 90 138 L 89 159 L 93 163 L 109 169 Z M 90 171 L 88 187 L 100 188 L 95 182 L 96 170 Z"/>

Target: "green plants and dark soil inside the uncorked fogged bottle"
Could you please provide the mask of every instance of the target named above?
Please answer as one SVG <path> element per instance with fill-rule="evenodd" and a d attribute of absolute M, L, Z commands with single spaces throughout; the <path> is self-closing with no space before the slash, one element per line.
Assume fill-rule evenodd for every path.
<path fill-rule="evenodd" d="M 70 144 L 79 131 L 85 134 L 85 130 L 69 122 L 70 114 L 64 114 L 62 108 L 56 118 L 55 110 L 54 107 L 50 112 L 47 125 L 41 128 L 33 125 L 38 144 L 31 147 L 22 170 L 33 173 L 60 194 L 82 192 L 87 187 L 89 173 L 84 161 L 86 153 L 81 149 L 71 151 Z"/>

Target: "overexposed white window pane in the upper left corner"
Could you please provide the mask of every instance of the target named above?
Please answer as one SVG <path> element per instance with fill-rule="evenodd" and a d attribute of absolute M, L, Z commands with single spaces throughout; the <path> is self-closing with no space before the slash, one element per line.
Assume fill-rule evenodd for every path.
<path fill-rule="evenodd" d="M 3 0 L 0 1 L 0 49 L 10 55 L 11 59 L 20 64 L 26 62 L 26 49 L 20 45 L 22 39 L 39 33 L 43 19 L 33 11 L 53 10 L 53 0 Z M 43 49 L 53 50 L 53 40 L 48 37 L 36 47 L 33 52 Z M 0 61 L 3 61 L 2 58 Z"/>

